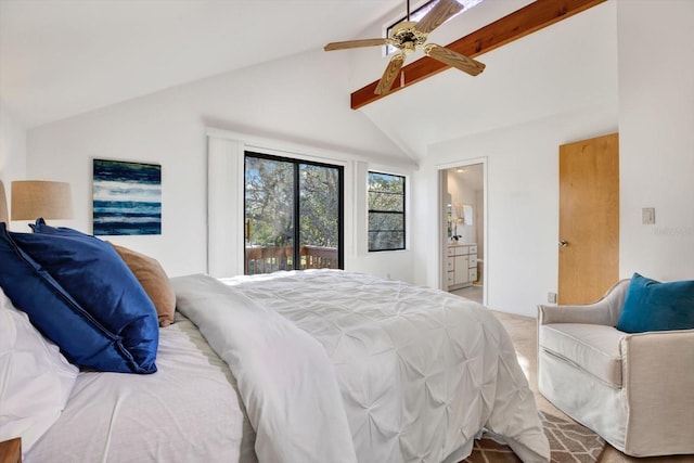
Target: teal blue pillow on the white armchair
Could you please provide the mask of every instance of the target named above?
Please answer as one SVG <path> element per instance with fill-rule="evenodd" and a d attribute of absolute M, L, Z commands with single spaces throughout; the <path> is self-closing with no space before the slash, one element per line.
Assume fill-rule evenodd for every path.
<path fill-rule="evenodd" d="M 625 333 L 694 329 L 694 281 L 660 283 L 634 273 L 616 329 Z"/>

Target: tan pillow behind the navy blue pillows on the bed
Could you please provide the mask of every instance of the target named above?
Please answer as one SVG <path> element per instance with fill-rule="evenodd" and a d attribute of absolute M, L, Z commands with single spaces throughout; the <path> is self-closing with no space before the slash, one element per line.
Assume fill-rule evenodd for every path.
<path fill-rule="evenodd" d="M 159 326 L 168 326 L 174 321 L 176 311 L 176 293 L 169 282 L 169 278 L 162 265 L 154 258 L 137 253 L 127 247 L 111 244 L 125 260 L 130 271 L 147 293 L 156 313 L 159 318 Z"/>

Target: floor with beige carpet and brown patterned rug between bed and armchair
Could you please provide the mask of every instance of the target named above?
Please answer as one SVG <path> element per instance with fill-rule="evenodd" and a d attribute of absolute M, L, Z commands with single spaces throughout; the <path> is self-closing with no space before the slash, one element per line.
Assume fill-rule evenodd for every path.
<path fill-rule="evenodd" d="M 635 459 L 628 456 L 605 443 L 590 429 L 576 423 L 538 393 L 537 382 L 537 320 L 529 317 L 515 316 L 493 311 L 504 325 L 518 356 L 518 363 L 525 372 L 530 389 L 545 425 L 544 433 L 550 440 L 552 462 L 556 463 L 694 463 L 694 455 L 654 456 Z M 581 443 L 576 443 L 580 441 Z M 571 447 L 576 443 L 576 447 Z M 596 449 L 600 447 L 600 449 Z M 492 448 L 496 449 L 492 451 Z M 493 439 L 485 438 L 475 442 L 475 449 L 465 462 L 468 463 L 506 463 L 518 462 L 518 458 L 507 446 Z"/>

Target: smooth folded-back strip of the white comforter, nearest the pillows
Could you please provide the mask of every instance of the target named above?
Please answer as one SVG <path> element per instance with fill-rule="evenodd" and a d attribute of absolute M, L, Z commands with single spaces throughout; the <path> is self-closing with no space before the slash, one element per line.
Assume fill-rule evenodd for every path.
<path fill-rule="evenodd" d="M 229 363 L 262 463 L 356 462 L 339 388 L 319 343 L 205 275 L 178 280 L 177 308 Z"/>

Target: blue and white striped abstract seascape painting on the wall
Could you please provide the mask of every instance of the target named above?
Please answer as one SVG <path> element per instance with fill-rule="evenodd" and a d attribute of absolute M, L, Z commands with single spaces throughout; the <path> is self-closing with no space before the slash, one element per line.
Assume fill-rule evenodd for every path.
<path fill-rule="evenodd" d="M 93 159 L 93 234 L 162 234 L 162 166 Z"/>

